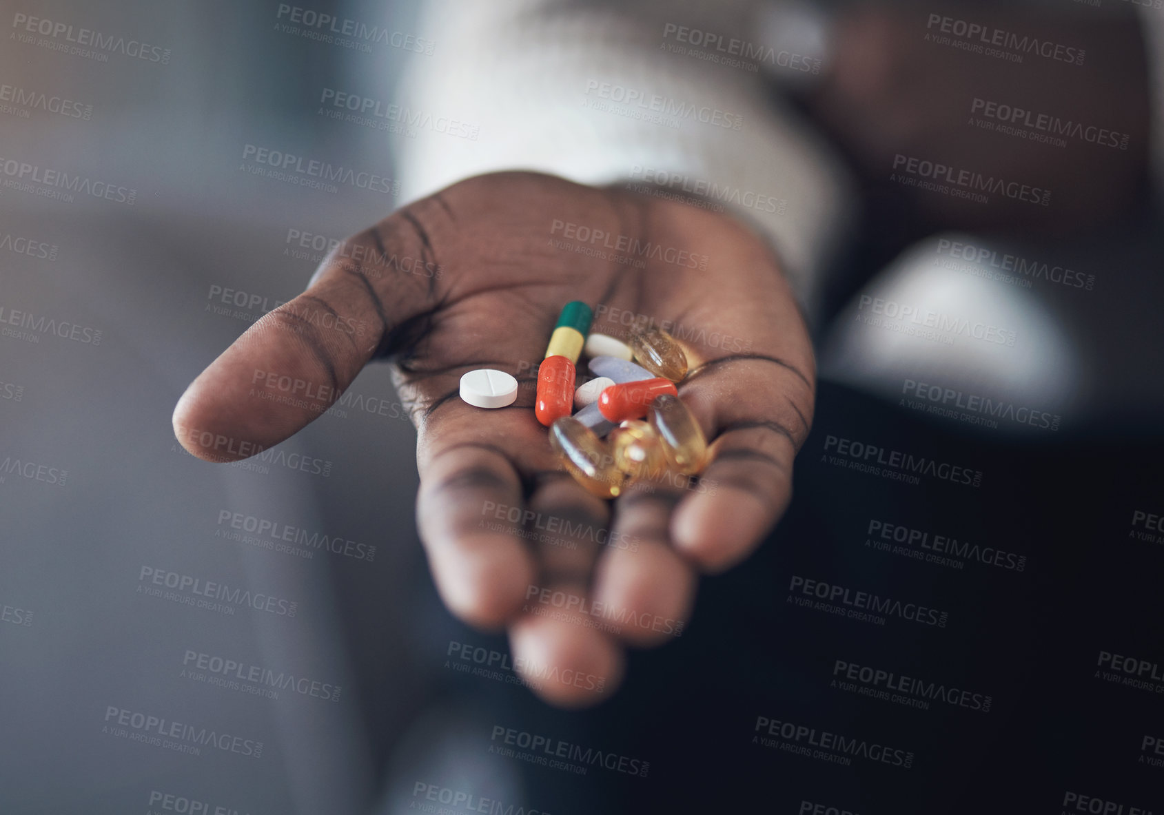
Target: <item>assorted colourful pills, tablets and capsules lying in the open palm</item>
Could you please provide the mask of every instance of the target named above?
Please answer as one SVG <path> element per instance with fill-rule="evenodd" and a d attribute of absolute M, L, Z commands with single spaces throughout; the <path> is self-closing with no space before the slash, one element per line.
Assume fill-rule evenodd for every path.
<path fill-rule="evenodd" d="M 668 472 L 698 474 L 708 462 L 708 440 L 675 387 L 687 376 L 682 347 L 653 327 L 633 331 L 627 342 L 590 334 L 592 319 L 585 303 L 567 303 L 538 368 L 534 416 L 549 427 L 549 444 L 566 470 L 602 498 Z M 596 378 L 575 390 L 583 353 Z M 516 397 L 517 381 L 502 371 L 461 378 L 461 398 L 477 408 L 504 408 Z M 572 414 L 575 406 L 581 410 Z"/>

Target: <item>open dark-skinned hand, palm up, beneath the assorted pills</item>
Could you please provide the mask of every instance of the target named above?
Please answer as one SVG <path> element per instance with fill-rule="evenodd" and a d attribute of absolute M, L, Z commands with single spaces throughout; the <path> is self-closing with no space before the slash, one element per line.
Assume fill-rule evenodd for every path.
<path fill-rule="evenodd" d="M 555 245 L 580 243 L 558 222 L 672 251 L 636 268 Z M 676 250 L 707 256 L 705 268 L 688 268 L 686 255 L 668 262 Z M 385 255 L 423 257 L 441 274 L 369 260 Z M 625 338 L 615 311 L 625 310 L 673 320 L 688 338 L 691 374 L 680 396 L 714 439 L 702 481 L 645 483 L 605 502 L 559 467 L 533 414 L 534 375 L 574 299 L 596 307 L 595 332 Z M 812 416 L 811 345 L 778 260 L 752 232 L 683 204 L 511 172 L 454 184 L 349 239 L 304 295 L 194 380 L 175 410 L 176 433 L 211 461 L 253 455 L 319 416 L 372 360 L 392 366 L 417 425 L 417 520 L 441 597 L 474 626 L 506 628 L 519 671 L 563 707 L 608 697 L 626 646 L 682 631 L 697 574 L 759 544 L 788 504 Z M 462 402 L 459 380 L 475 368 L 517 375 L 514 405 Z M 333 390 L 319 404 L 286 404 L 255 371 Z M 558 518 L 583 533 L 519 537 L 520 520 L 494 506 L 541 513 L 539 532 Z M 606 537 L 595 530 L 636 546 L 599 545 Z"/>

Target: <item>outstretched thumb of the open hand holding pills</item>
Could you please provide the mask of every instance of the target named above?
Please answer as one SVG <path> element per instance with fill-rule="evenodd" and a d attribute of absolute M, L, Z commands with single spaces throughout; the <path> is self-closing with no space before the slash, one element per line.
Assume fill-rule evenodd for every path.
<path fill-rule="evenodd" d="M 236 461 L 319 417 L 432 309 L 431 255 L 410 210 L 333 249 L 303 295 L 260 318 L 186 388 L 173 411 L 182 446 L 207 461 Z"/>

